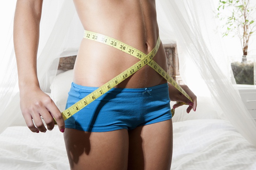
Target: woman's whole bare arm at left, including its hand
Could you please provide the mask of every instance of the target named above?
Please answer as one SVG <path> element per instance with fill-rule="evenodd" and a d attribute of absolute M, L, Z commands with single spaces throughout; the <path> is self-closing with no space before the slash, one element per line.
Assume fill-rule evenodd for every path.
<path fill-rule="evenodd" d="M 61 132 L 64 119 L 52 99 L 39 86 L 37 52 L 43 0 L 17 0 L 14 14 L 14 50 L 18 68 L 20 109 L 32 132 L 45 132 L 54 127 L 56 119 Z M 34 123 L 33 123 L 33 120 Z"/>

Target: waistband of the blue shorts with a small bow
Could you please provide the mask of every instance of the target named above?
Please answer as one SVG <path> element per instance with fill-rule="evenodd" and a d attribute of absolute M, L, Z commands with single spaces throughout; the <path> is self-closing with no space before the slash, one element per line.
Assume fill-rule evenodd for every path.
<path fill-rule="evenodd" d="M 75 84 L 74 82 L 71 83 L 71 86 L 74 86 L 74 88 L 77 88 L 78 91 L 82 92 L 83 90 L 88 92 L 93 92 L 94 90 L 98 89 L 98 87 L 89 87 L 89 86 L 82 86 Z M 168 88 L 168 83 L 147 87 L 148 90 L 155 90 L 159 88 Z M 112 88 L 109 91 L 110 92 L 144 92 L 146 88 Z"/>

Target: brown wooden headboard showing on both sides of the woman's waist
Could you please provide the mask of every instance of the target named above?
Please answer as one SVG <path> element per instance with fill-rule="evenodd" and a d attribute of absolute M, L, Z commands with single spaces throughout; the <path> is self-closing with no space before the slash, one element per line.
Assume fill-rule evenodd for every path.
<path fill-rule="evenodd" d="M 167 60 L 167 72 L 178 83 L 183 84 L 179 72 L 179 61 L 176 44 L 165 44 L 166 60 Z M 69 57 L 61 57 L 58 70 L 71 70 L 74 68 L 76 55 Z"/>

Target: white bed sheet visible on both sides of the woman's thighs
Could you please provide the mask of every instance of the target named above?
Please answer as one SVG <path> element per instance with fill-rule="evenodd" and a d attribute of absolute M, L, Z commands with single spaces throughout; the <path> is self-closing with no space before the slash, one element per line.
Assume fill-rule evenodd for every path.
<path fill-rule="evenodd" d="M 256 147 L 227 121 L 175 122 L 173 132 L 172 170 L 256 170 Z M 63 134 L 8 127 L 0 135 L 0 169 L 69 169 Z"/>

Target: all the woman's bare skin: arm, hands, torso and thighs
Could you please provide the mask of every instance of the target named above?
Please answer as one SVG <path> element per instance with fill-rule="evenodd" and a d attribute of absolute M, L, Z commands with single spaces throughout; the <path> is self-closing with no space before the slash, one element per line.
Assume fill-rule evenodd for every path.
<path fill-rule="evenodd" d="M 146 54 L 154 48 L 159 35 L 154 0 L 74 0 L 74 4 L 85 30 L 116 38 Z M 42 92 L 38 83 L 36 58 L 41 10 L 42 0 L 17 0 L 14 16 L 20 108 L 30 130 L 46 131 L 40 115 L 47 129 L 52 130 L 52 117 L 55 117 L 60 131 L 65 130 L 64 140 L 71 169 L 170 169 L 172 119 L 131 131 L 84 132 L 65 129 L 61 112 L 52 99 Z M 167 71 L 162 43 L 154 60 Z M 138 61 L 113 47 L 83 39 L 75 62 L 73 81 L 83 86 L 98 87 Z M 116 87 L 145 88 L 163 83 L 166 80 L 146 65 Z M 168 85 L 172 101 L 189 104 L 188 113 L 191 109 L 196 110 L 196 96 L 188 86 L 182 85 L 182 88 L 192 97 L 193 103 L 171 84 Z M 179 106 L 175 104 L 173 107 Z"/>

